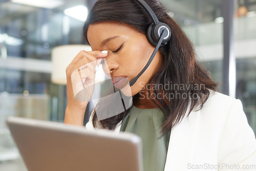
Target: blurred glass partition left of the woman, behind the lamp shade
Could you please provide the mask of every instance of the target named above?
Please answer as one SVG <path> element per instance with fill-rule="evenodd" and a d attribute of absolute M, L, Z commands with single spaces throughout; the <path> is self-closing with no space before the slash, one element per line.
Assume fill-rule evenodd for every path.
<path fill-rule="evenodd" d="M 63 1 L 52 8 L 0 1 L 0 170 L 27 170 L 7 129 L 7 117 L 63 122 L 66 86 L 51 82 L 51 51 L 84 44 L 84 21 L 65 10 L 86 4 Z"/>

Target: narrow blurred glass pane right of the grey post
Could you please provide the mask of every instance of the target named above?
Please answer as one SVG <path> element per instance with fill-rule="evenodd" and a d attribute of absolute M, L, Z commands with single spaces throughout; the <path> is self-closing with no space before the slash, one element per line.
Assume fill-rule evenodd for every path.
<path fill-rule="evenodd" d="M 253 2 L 234 1 L 234 55 L 236 56 L 236 98 L 256 132 L 256 7 Z M 255 2 L 254 2 L 255 3 Z"/>

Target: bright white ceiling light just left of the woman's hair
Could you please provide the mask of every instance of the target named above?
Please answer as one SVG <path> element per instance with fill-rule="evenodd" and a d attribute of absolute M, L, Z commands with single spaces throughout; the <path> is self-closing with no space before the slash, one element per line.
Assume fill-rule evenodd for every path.
<path fill-rule="evenodd" d="M 64 10 L 64 13 L 68 16 L 81 20 L 82 22 L 85 22 L 88 15 L 88 8 L 83 5 L 78 5 L 78 6 Z"/>

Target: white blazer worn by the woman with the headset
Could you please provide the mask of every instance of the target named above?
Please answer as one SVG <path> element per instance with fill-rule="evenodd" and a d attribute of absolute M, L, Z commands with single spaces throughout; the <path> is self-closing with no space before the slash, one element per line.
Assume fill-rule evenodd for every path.
<path fill-rule="evenodd" d="M 91 117 L 86 127 L 94 129 Z M 211 91 L 203 108 L 172 130 L 164 168 L 169 170 L 256 170 L 256 140 L 241 101 Z"/>

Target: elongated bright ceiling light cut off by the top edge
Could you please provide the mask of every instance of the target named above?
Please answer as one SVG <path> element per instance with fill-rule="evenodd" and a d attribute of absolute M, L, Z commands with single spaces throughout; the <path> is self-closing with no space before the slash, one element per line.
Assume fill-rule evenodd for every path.
<path fill-rule="evenodd" d="M 36 1 L 36 0 L 11 0 L 13 3 L 18 3 L 18 4 L 24 4 L 24 5 L 29 5 L 29 6 L 34 6 L 34 7 L 40 7 L 40 8 L 49 8 L 53 9 L 56 7 L 59 7 L 63 5 L 62 0 L 44 0 L 44 1 Z"/>

